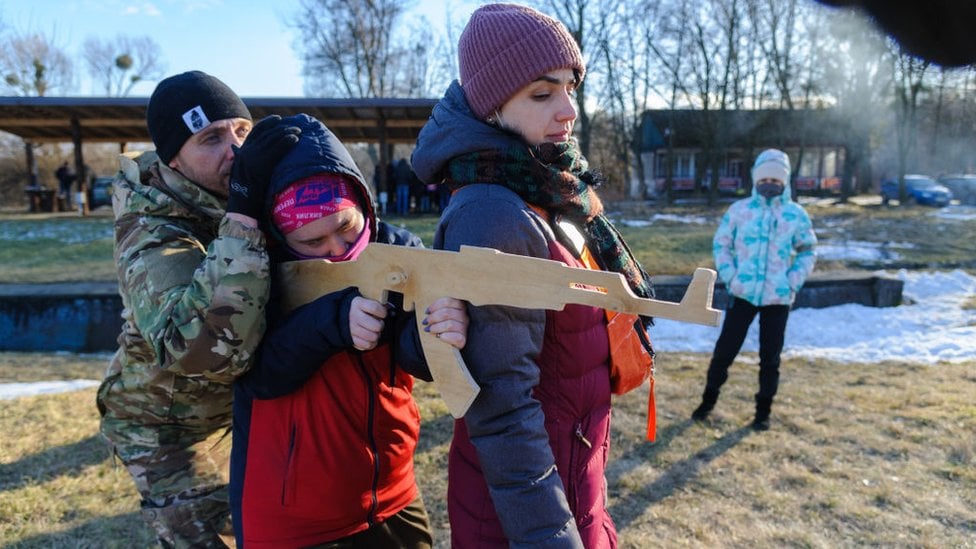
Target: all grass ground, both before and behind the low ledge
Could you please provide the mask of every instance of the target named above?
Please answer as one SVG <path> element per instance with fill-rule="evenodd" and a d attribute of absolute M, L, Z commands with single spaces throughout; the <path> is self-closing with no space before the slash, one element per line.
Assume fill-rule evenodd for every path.
<path fill-rule="evenodd" d="M 633 207 L 618 219 L 651 274 L 711 266 L 724 206 Z M 818 270 L 976 268 L 976 223 L 928 208 L 811 205 L 822 243 L 880 246 L 880 259 Z M 971 215 L 971 214 L 970 214 Z M 685 218 L 685 219 L 681 219 Z M 702 223 L 688 222 L 700 218 Z M 430 242 L 436 219 L 391 219 Z M 0 214 L 0 282 L 113 279 L 111 219 Z M 976 307 L 976 296 L 971 307 Z M 748 428 L 756 358 L 733 366 L 709 422 L 688 420 L 707 355 L 658 349 L 658 437 L 643 439 L 647 387 L 616 399 L 607 473 L 621 547 L 976 548 L 976 357 L 966 363 L 787 359 L 773 427 Z M 0 383 L 100 378 L 107 355 L 0 353 Z M 152 547 L 128 474 L 98 436 L 95 389 L 0 400 L 0 547 Z M 416 455 L 438 547 L 452 420 L 417 397 Z"/>

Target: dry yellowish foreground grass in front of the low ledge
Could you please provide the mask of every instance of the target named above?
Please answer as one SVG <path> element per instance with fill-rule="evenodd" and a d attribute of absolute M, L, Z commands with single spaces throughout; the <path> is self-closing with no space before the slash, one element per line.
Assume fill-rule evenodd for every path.
<path fill-rule="evenodd" d="M 107 357 L 0 353 L 0 380 L 97 378 Z M 733 366 L 712 419 L 687 418 L 708 357 L 658 355 L 617 398 L 607 473 L 621 547 L 976 546 L 976 361 L 920 367 L 787 360 L 773 428 L 748 428 L 755 356 Z M 152 547 L 125 470 L 98 437 L 94 388 L 0 401 L 0 547 Z M 416 456 L 436 529 L 452 420 L 432 386 Z"/>

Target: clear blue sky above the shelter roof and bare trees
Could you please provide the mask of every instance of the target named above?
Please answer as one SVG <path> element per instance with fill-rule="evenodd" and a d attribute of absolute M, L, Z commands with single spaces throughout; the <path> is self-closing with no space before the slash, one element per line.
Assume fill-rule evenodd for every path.
<path fill-rule="evenodd" d="M 465 0 L 421 0 L 411 14 L 443 26 L 442 14 L 465 21 L 477 5 Z M 80 60 L 89 36 L 151 36 L 163 51 L 166 73 L 199 69 L 242 96 L 301 96 L 301 63 L 287 21 L 299 0 L 0 0 L 0 21 L 18 32 L 41 32 Z M 81 66 L 70 95 L 93 95 Z M 136 87 L 148 96 L 155 86 Z"/>

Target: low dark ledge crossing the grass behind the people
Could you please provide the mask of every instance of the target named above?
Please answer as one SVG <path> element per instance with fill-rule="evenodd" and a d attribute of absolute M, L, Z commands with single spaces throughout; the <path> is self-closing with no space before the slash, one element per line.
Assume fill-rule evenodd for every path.
<path fill-rule="evenodd" d="M 657 298 L 680 301 L 690 276 L 655 276 Z M 844 303 L 868 307 L 901 304 L 902 281 L 870 273 L 815 273 L 794 308 Z M 713 304 L 725 307 L 725 286 Z M 122 328 L 122 298 L 115 282 L 0 284 L 0 351 L 113 351 Z"/>

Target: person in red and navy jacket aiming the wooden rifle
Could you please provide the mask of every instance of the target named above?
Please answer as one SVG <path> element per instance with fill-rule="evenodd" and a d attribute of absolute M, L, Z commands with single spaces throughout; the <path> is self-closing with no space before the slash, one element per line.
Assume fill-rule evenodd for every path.
<path fill-rule="evenodd" d="M 421 246 L 376 217 L 338 138 L 307 115 L 272 177 L 264 219 L 278 261 L 356 259 L 369 242 Z M 276 288 L 280 290 L 280 288 Z M 275 295 L 274 293 L 272 295 Z M 431 547 L 414 477 L 420 412 L 413 372 L 430 379 L 413 313 L 356 288 L 273 320 L 254 368 L 235 382 L 231 501 L 242 546 Z M 467 315 L 438 300 L 428 331 L 464 346 Z"/>

